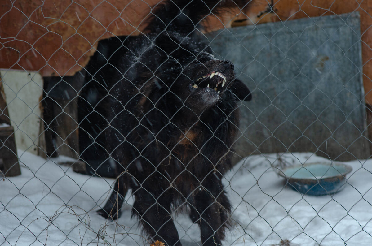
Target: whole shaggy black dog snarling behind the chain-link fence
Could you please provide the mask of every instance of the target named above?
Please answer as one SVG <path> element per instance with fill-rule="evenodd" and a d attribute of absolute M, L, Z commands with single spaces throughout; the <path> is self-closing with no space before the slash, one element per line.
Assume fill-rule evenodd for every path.
<path fill-rule="evenodd" d="M 169 246 L 181 245 L 171 211 L 183 205 L 203 245 L 221 245 L 229 221 L 221 179 L 231 168 L 237 101 L 251 95 L 196 29 L 220 7 L 217 0 L 167 0 L 153 10 L 148 34 L 116 38 L 87 67 L 87 82 L 106 90 L 93 109 L 106 119 L 95 139 L 106 141 L 117 162 L 114 191 L 99 214 L 117 219 L 131 189 L 133 215 L 151 240 Z"/>

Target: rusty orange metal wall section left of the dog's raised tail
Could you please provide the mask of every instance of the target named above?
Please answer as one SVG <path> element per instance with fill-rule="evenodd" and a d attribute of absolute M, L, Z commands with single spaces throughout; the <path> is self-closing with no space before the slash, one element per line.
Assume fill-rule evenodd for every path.
<path fill-rule="evenodd" d="M 1 0 L 0 67 L 73 75 L 97 41 L 136 32 L 155 1 Z"/>

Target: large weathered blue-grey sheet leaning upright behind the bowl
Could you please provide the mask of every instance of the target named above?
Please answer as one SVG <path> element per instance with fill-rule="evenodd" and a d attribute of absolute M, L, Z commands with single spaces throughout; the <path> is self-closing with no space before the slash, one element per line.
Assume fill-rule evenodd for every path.
<path fill-rule="evenodd" d="M 240 156 L 369 158 L 359 13 L 235 27 L 208 38 L 252 91 L 240 107 Z"/>

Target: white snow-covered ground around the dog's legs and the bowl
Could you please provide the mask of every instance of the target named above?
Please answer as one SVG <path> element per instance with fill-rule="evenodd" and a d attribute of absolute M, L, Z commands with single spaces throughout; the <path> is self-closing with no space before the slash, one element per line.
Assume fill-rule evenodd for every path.
<path fill-rule="evenodd" d="M 22 153 L 19 150 L 19 153 Z M 312 153 L 286 153 L 282 162 L 324 161 Z M 116 222 L 96 211 L 113 179 L 74 173 L 58 160 L 24 152 L 22 175 L 0 180 L 0 245 L 149 245 L 131 219 L 130 195 Z M 344 190 L 314 197 L 284 187 L 272 165 L 278 155 L 254 155 L 225 176 L 233 226 L 224 245 L 372 245 L 372 160 L 347 162 Z M 176 216 L 184 246 L 200 245 L 198 226 Z"/>

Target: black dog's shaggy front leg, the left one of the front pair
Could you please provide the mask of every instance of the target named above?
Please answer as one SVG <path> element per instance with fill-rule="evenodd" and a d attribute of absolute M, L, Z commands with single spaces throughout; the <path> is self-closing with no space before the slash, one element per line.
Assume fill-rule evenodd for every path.
<path fill-rule="evenodd" d="M 140 218 L 150 240 L 159 240 L 167 246 L 182 246 L 171 215 L 171 194 L 163 192 L 157 196 L 149 189 L 140 188 L 134 192 L 133 214 Z"/>

